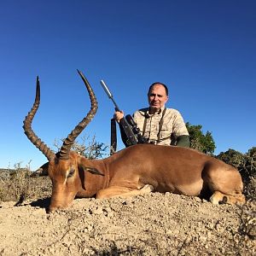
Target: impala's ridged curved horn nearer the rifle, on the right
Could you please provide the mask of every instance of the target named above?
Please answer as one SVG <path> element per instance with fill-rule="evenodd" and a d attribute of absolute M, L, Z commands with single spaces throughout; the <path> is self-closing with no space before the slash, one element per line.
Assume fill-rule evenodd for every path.
<path fill-rule="evenodd" d="M 75 141 L 76 137 L 79 136 L 79 134 L 84 130 L 86 125 L 88 125 L 93 119 L 93 117 L 96 114 L 98 103 L 96 102 L 96 96 L 93 92 L 93 90 L 90 87 L 90 84 L 87 79 L 85 79 L 84 74 L 78 70 L 78 73 L 83 79 L 84 84 L 88 90 L 89 96 L 90 96 L 90 111 L 87 113 L 86 117 L 77 125 L 73 131 L 67 136 L 64 143 L 62 144 L 61 150 L 60 150 L 60 159 L 68 159 L 70 148 L 73 145 L 73 142 Z"/>

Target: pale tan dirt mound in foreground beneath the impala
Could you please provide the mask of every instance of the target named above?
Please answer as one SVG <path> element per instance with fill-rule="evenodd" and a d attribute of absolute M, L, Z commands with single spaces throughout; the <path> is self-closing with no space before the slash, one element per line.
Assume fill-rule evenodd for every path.
<path fill-rule="evenodd" d="M 77 199 L 70 209 L 50 214 L 45 212 L 48 204 L 49 198 L 25 201 L 20 207 L 1 204 L 0 255 L 256 253 L 254 231 L 246 234 L 242 223 L 246 211 L 237 206 L 214 206 L 170 193 Z M 254 204 L 250 211 L 255 214 Z"/>

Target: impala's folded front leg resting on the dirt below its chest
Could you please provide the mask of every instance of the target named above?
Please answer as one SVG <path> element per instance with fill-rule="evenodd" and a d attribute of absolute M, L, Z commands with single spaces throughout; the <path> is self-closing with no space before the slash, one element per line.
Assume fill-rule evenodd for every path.
<path fill-rule="evenodd" d="M 96 194 L 97 199 L 111 197 L 130 197 L 134 195 L 148 194 L 154 190 L 153 186 L 145 185 L 142 189 L 130 189 L 125 187 L 112 186 L 108 189 L 99 190 Z"/>

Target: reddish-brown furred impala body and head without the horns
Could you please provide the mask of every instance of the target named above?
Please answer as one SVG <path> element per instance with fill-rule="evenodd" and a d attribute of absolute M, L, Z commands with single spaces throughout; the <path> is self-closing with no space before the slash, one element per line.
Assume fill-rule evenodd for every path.
<path fill-rule="evenodd" d="M 191 148 L 137 144 L 104 160 L 71 152 L 68 160 L 49 162 L 48 173 L 53 183 L 49 211 L 68 207 L 75 196 L 126 197 L 153 190 L 209 193 L 213 204 L 245 201 L 236 168 Z"/>

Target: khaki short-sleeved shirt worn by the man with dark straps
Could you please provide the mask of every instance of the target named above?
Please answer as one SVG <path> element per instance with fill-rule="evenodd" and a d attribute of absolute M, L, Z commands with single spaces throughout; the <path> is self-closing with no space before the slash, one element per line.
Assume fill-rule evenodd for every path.
<path fill-rule="evenodd" d="M 147 122 L 143 137 L 148 138 L 149 143 L 171 145 L 175 144 L 177 137 L 182 135 L 189 135 L 182 115 L 173 108 L 166 108 L 166 113 L 163 117 L 163 125 L 161 131 L 159 131 L 160 120 L 162 118 L 164 108 L 161 108 L 159 112 L 154 114 L 149 114 L 148 108 L 142 108 L 133 114 L 134 120 L 137 123 L 137 127 L 140 129 L 142 134 L 146 116 Z M 159 132 L 160 142 L 157 143 Z"/>

